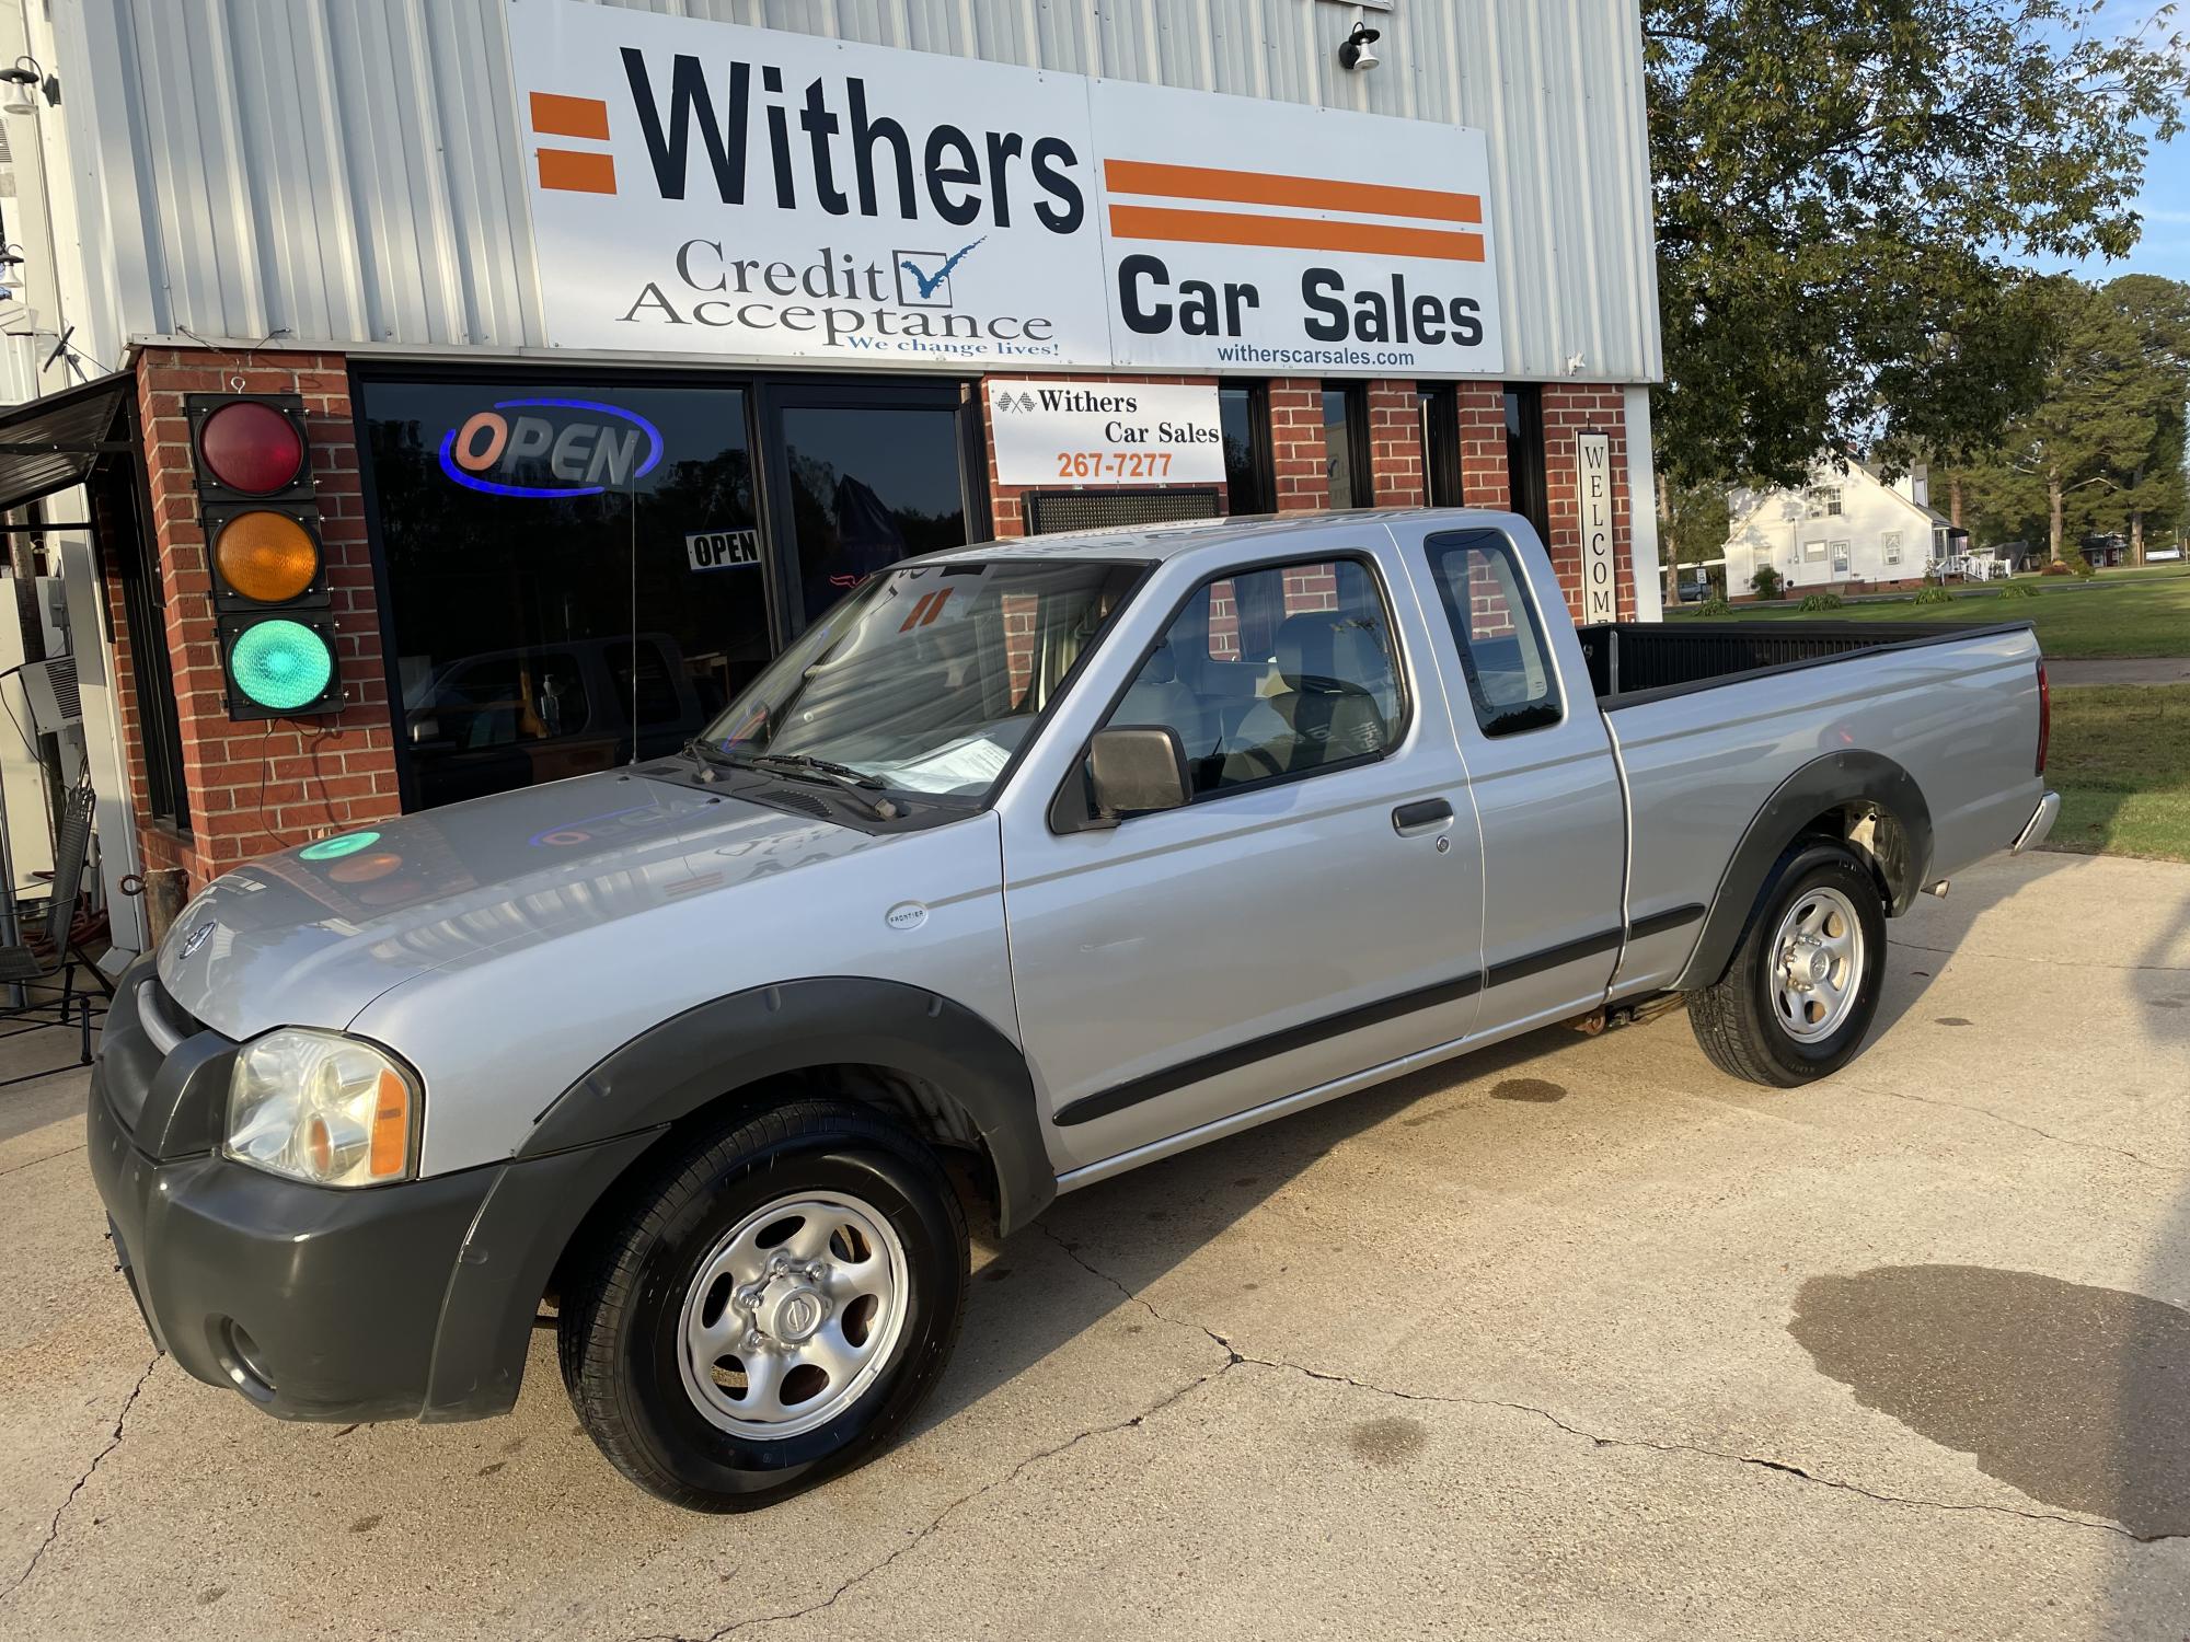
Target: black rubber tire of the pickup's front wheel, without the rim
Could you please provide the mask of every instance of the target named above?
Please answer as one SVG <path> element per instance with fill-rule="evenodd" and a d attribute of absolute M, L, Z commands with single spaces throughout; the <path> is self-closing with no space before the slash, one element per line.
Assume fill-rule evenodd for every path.
<path fill-rule="evenodd" d="M 753 1441 L 707 1419 L 679 1357 L 685 1294 L 716 1244 L 802 1191 L 887 1217 L 909 1274 L 904 1325 L 876 1377 L 817 1430 Z M 618 1198 L 563 1285 L 563 1386 L 609 1462 L 692 1511 L 756 1511 L 867 1462 L 913 1416 L 957 1344 L 966 1215 L 920 1136 L 854 1101 L 793 1099 L 729 1119 Z"/>

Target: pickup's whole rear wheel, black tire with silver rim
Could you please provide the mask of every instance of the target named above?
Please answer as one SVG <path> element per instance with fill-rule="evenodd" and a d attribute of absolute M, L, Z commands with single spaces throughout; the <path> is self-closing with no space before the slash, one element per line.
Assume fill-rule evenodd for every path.
<path fill-rule="evenodd" d="M 1886 976 L 1886 902 L 1842 845 L 1796 856 L 1759 906 L 1717 985 L 1688 994 L 1688 1022 L 1730 1077 L 1794 1088 L 1864 1047 Z"/>

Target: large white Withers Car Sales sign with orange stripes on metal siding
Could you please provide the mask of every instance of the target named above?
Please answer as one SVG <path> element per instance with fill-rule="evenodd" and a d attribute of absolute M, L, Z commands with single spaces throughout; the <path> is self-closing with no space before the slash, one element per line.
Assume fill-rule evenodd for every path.
<path fill-rule="evenodd" d="M 510 0 L 548 339 L 1500 374 L 1480 131 Z"/>

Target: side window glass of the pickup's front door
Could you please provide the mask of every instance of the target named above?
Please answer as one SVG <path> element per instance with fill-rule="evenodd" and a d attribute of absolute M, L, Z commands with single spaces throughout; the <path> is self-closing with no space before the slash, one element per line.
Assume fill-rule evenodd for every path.
<path fill-rule="evenodd" d="M 1375 571 L 1358 558 L 1202 582 L 1108 725 L 1167 725 L 1194 797 L 1384 753 L 1404 722 Z"/>

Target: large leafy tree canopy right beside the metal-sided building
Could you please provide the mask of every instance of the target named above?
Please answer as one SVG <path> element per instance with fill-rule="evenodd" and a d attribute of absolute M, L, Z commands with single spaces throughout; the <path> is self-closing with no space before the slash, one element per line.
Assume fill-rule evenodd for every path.
<path fill-rule="evenodd" d="M 2043 396 L 2010 258 L 2126 254 L 2190 57 L 2172 7 L 1642 0 L 1675 484 L 1993 447 Z"/>

